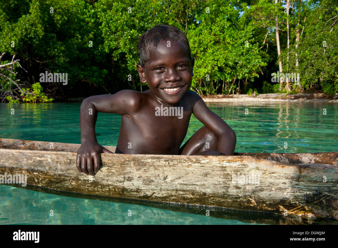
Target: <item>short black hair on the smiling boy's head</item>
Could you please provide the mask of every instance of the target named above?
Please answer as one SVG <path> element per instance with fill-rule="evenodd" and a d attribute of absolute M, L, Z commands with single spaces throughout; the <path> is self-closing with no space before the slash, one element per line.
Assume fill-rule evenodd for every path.
<path fill-rule="evenodd" d="M 189 41 L 184 32 L 180 29 L 170 25 L 161 24 L 155 25 L 148 29 L 144 34 L 139 37 L 139 54 L 140 54 L 140 65 L 145 69 L 145 65 L 149 59 L 149 50 L 157 48 L 161 42 L 173 41 L 181 43 L 184 50 L 188 53 L 191 59 L 191 51 Z"/>

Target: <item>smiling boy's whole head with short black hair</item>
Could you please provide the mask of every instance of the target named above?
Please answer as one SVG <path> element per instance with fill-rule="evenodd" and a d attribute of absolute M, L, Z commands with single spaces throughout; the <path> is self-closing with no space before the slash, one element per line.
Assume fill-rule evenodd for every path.
<path fill-rule="evenodd" d="M 187 36 L 178 28 L 156 25 L 139 37 L 141 82 L 162 102 L 176 104 L 190 89 L 194 58 Z"/>

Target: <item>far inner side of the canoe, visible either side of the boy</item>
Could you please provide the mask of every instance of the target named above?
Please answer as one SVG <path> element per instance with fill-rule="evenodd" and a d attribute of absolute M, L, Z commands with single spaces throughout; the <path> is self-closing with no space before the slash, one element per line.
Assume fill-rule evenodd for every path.
<path fill-rule="evenodd" d="M 15 139 L 0 139 L 0 148 L 18 150 L 40 150 L 40 151 L 65 151 L 77 152 L 80 144 L 27 141 Z M 115 152 L 115 146 L 103 146 Z M 235 152 L 238 156 L 252 156 L 255 158 L 273 160 L 286 164 L 324 164 L 338 165 L 338 152 L 316 152 L 316 153 L 247 153 Z"/>

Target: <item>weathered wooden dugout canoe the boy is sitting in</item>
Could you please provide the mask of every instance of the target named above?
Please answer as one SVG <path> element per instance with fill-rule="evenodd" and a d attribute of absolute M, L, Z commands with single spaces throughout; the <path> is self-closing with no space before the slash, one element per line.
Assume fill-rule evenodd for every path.
<path fill-rule="evenodd" d="M 0 174 L 27 174 L 27 185 L 60 192 L 338 220 L 338 152 L 102 153 L 90 176 L 76 169 L 79 146 L 0 139 Z"/>

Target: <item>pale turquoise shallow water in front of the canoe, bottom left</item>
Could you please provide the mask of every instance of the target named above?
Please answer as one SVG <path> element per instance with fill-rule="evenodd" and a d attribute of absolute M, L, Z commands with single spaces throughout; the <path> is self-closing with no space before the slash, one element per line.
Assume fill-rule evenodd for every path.
<path fill-rule="evenodd" d="M 135 204 L 57 196 L 2 184 L 0 198 L 0 224 L 251 224 Z M 54 216 L 50 216 L 50 210 Z"/>

